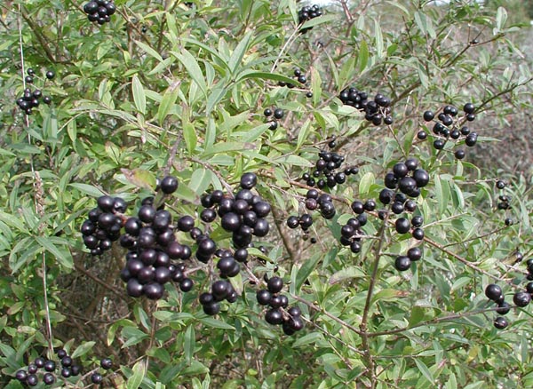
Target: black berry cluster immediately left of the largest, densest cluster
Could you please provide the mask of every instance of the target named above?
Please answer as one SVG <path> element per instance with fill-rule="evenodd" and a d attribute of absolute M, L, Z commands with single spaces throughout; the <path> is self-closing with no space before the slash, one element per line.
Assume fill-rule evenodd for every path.
<path fill-rule="evenodd" d="M 123 226 L 123 213 L 128 205 L 120 197 L 108 195 L 100 196 L 98 206 L 89 211 L 89 215 L 82 225 L 84 243 L 92 255 L 101 255 L 110 250 L 113 242 L 120 238 Z"/>

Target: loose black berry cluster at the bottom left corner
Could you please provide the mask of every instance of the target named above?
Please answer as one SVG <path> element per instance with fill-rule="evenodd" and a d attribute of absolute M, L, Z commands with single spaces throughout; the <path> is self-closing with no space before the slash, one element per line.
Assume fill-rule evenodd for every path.
<path fill-rule="evenodd" d="M 82 366 L 77 365 L 68 353 L 60 349 L 56 353 L 60 361 L 60 376 L 63 378 L 77 377 L 82 373 Z M 113 366 L 113 362 L 109 358 L 103 358 L 100 361 L 100 367 L 108 370 Z M 44 371 L 43 371 L 44 370 Z M 36 386 L 39 384 L 39 377 L 41 377 L 44 385 L 53 385 L 56 383 L 56 361 L 38 357 L 33 363 L 28 365 L 27 369 L 20 369 L 15 373 L 15 377 L 20 383 L 28 386 Z M 41 374 L 42 373 L 42 374 Z M 100 384 L 103 381 L 102 375 L 94 371 L 91 374 L 91 383 Z"/>

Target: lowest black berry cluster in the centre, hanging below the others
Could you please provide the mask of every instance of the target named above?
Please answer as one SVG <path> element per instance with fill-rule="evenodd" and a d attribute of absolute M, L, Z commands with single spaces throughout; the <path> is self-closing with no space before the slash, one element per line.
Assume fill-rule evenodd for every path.
<path fill-rule="evenodd" d="M 270 309 L 265 314 L 267 323 L 282 325 L 285 335 L 292 335 L 296 331 L 304 328 L 304 322 L 298 306 L 288 308 L 289 299 L 287 296 L 280 294 L 282 289 L 282 278 L 276 276 L 271 277 L 267 280 L 267 289 L 258 290 L 256 298 L 258 299 L 259 305 L 270 306 Z"/>

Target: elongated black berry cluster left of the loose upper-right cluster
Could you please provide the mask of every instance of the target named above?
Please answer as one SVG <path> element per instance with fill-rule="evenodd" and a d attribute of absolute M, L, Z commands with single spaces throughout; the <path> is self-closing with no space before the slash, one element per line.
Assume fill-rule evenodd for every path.
<path fill-rule="evenodd" d="M 343 104 L 355 107 L 364 112 L 364 118 L 374 125 L 387 125 L 393 123 L 391 116 L 391 99 L 378 93 L 373 100 L 369 100 L 369 95 L 365 91 L 357 91 L 355 88 L 346 88 L 341 91 L 338 98 Z"/>

